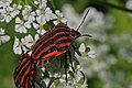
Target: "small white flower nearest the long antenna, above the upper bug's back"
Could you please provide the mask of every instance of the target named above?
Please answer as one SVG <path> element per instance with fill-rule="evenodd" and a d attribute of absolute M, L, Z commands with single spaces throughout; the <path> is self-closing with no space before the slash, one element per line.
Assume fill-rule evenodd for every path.
<path fill-rule="evenodd" d="M 67 19 L 64 18 L 63 13 L 61 13 L 59 10 L 56 10 L 55 13 L 57 14 L 57 20 L 54 21 L 54 24 L 57 25 L 58 23 L 66 23 L 67 22 Z"/>

